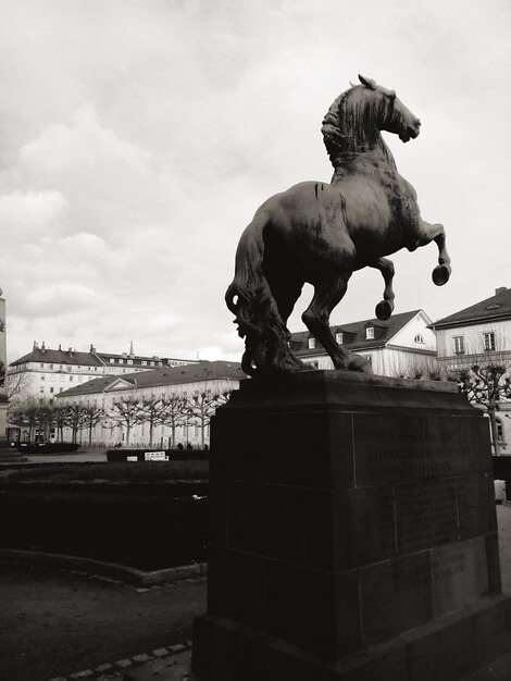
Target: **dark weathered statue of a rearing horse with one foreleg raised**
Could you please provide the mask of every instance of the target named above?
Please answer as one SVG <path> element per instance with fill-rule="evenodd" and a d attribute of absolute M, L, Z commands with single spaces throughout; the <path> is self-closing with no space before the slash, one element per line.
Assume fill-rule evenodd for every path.
<path fill-rule="evenodd" d="M 394 90 L 359 75 L 323 120 L 323 139 L 334 165 L 331 184 L 302 182 L 267 199 L 242 233 L 225 301 L 245 337 L 242 370 L 269 375 L 311 369 L 289 347 L 286 326 L 306 282 L 314 295 L 302 314 L 336 369 L 372 373 L 367 360 L 338 345 L 329 315 L 353 272 L 375 268 L 385 288 L 376 317 L 394 310 L 394 264 L 385 256 L 435 242 L 437 286 L 450 276 L 441 224 L 422 220 L 414 188 L 398 173 L 381 131 L 407 143 L 421 122 Z"/>

